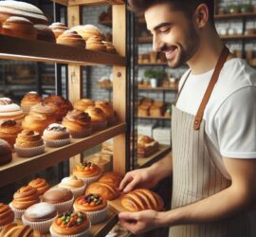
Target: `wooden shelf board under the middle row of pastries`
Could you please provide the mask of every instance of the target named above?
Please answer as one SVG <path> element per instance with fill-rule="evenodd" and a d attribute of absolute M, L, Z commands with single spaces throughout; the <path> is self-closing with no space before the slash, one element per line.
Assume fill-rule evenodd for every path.
<path fill-rule="evenodd" d="M 53 166 L 73 155 L 81 154 L 103 141 L 116 137 L 126 132 L 126 123 L 110 127 L 106 130 L 94 133 L 90 137 L 71 139 L 71 144 L 60 148 L 46 147 L 46 153 L 30 158 L 18 157 L 15 153 L 12 155 L 12 161 L 0 167 L 0 187 L 25 177 L 29 174 L 40 172 L 47 167 Z"/>

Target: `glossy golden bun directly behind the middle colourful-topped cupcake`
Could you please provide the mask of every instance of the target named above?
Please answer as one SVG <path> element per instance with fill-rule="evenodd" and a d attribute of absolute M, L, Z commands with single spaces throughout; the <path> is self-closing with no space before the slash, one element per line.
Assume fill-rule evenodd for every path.
<path fill-rule="evenodd" d="M 85 190 L 85 194 L 89 193 L 99 194 L 106 200 L 116 199 L 120 194 L 119 189 L 117 189 L 115 186 L 100 182 L 90 184 Z"/>

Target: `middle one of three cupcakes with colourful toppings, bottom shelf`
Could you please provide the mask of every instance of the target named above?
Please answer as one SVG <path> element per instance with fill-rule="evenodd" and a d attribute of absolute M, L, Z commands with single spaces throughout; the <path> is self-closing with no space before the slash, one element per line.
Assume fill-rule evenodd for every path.
<path fill-rule="evenodd" d="M 101 195 L 92 193 L 77 198 L 73 208 L 76 211 L 85 213 L 89 217 L 91 224 L 104 221 L 108 214 L 106 200 L 103 199 Z"/>

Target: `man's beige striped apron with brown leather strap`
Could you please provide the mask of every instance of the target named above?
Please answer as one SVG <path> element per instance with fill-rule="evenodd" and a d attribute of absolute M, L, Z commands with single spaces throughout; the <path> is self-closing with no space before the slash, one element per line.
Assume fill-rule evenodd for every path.
<path fill-rule="evenodd" d="M 230 180 L 218 170 L 210 156 L 205 138 L 205 121 L 202 119 L 214 84 L 217 82 L 228 55 L 229 50 L 225 48 L 215 67 L 196 116 L 182 112 L 173 106 L 172 145 L 174 172 L 172 209 L 207 198 L 214 193 L 227 189 L 231 184 Z M 210 224 L 177 226 L 170 228 L 169 232 L 169 237 L 248 236 L 250 236 L 250 226 L 247 214 Z"/>

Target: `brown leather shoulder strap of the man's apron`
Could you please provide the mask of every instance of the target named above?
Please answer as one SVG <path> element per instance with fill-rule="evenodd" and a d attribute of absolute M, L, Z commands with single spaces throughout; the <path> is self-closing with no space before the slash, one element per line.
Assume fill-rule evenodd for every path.
<path fill-rule="evenodd" d="M 216 64 L 216 67 L 213 71 L 213 74 L 212 74 L 212 77 L 210 79 L 210 83 L 207 87 L 204 98 L 201 101 L 201 104 L 199 106 L 197 114 L 194 118 L 194 121 L 193 121 L 193 129 L 194 130 L 198 130 L 200 128 L 200 124 L 201 124 L 201 121 L 202 121 L 202 118 L 203 118 L 203 115 L 204 115 L 206 105 L 207 105 L 208 101 L 210 100 L 211 92 L 214 88 L 215 83 L 218 81 L 221 69 L 223 68 L 225 62 L 227 61 L 228 56 L 229 56 L 229 48 L 227 46 L 224 46 L 224 48 L 222 50 L 222 53 L 221 53 L 221 55 L 218 59 L 218 62 Z"/>

